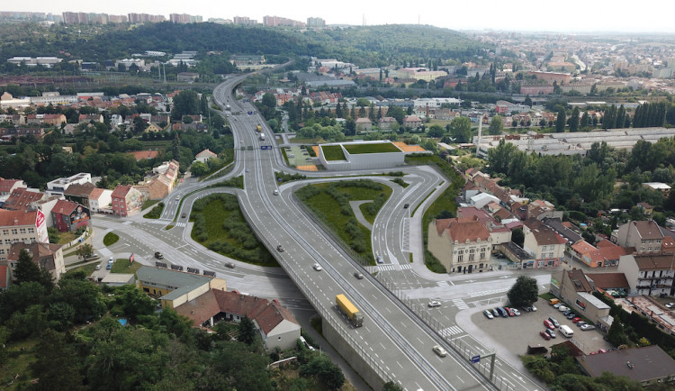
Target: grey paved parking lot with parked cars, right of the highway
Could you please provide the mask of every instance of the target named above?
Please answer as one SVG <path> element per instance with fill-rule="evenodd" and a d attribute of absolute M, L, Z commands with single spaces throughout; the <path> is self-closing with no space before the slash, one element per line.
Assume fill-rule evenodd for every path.
<path fill-rule="evenodd" d="M 536 312 L 528 313 L 520 310 L 520 316 L 488 319 L 481 311 L 473 314 L 471 320 L 482 332 L 492 337 L 493 343 L 500 344 L 504 350 L 517 355 L 526 354 L 527 345 L 541 345 L 550 349 L 552 345 L 568 340 L 557 328 L 554 330 L 556 338 L 551 340 L 545 340 L 539 335 L 539 332 L 545 331 L 544 320 L 549 316 L 553 316 L 558 323 L 566 324 L 572 329 L 574 332 L 572 339 L 577 342 L 577 346 L 584 353 L 590 354 L 591 351 L 612 348 L 608 341 L 603 340 L 598 330 L 581 331 L 575 323 L 568 320 L 563 313 L 549 305 L 544 299 L 540 298 L 535 305 Z"/>

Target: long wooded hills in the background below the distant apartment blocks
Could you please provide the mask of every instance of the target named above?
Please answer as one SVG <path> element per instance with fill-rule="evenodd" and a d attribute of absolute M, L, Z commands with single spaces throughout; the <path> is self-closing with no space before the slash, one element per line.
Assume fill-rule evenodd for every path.
<path fill-rule="evenodd" d="M 384 25 L 350 27 L 327 31 L 283 30 L 263 26 L 216 23 L 148 23 L 123 29 L 120 25 L 79 26 L 54 24 L 49 28 L 22 23 L 0 38 L 4 58 L 57 56 L 103 63 L 128 59 L 134 53 L 158 50 L 180 53 L 197 50 L 197 59 L 207 52 L 265 54 L 284 62 L 287 57 L 315 56 L 354 62 L 360 67 L 381 67 L 433 59 L 461 61 L 488 48 L 463 33 L 432 26 Z M 84 34 L 82 31 L 84 30 Z M 31 34 L 26 32 L 41 32 Z M 79 31 L 79 33 L 78 33 Z"/>

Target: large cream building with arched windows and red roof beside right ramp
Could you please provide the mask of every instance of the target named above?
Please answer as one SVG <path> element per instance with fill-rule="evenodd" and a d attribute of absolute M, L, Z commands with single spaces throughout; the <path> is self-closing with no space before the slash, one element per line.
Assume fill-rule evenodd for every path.
<path fill-rule="evenodd" d="M 472 273 L 490 265 L 492 238 L 475 217 L 434 220 L 429 224 L 428 248 L 449 273 Z"/>

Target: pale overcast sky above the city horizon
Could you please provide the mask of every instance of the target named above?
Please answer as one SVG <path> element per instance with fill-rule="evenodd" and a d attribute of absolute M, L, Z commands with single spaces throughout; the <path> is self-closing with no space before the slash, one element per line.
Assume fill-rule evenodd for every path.
<path fill-rule="evenodd" d="M 4 2 L 3 2 L 4 3 Z M 248 16 L 262 23 L 275 15 L 307 22 L 323 18 L 328 24 L 431 24 L 452 30 L 507 30 L 540 32 L 671 32 L 675 33 L 672 0 L 643 0 L 626 4 L 616 0 L 31 0 L 7 2 L 0 11 L 65 11 L 105 14 L 193 14 L 231 19 Z"/>

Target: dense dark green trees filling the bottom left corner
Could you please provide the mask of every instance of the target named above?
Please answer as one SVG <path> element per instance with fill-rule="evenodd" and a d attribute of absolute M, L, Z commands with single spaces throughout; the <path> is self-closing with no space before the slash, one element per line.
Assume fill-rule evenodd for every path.
<path fill-rule="evenodd" d="M 136 286 L 98 286 L 84 272 L 54 284 L 27 251 L 16 277 L 0 292 L 0 381 L 11 389 L 272 391 L 345 382 L 328 356 L 300 341 L 266 351 L 246 317 L 205 332 L 175 311 L 157 311 Z M 293 356 L 290 367 L 267 368 Z"/>

